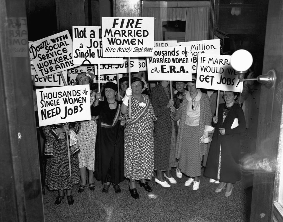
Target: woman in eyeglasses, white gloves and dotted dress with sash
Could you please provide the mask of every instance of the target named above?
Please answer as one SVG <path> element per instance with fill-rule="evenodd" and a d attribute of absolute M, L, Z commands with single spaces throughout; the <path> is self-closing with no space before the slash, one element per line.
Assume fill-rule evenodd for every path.
<path fill-rule="evenodd" d="M 131 88 L 126 90 L 121 106 L 120 118 L 126 118 L 124 130 L 125 177 L 130 179 L 129 191 L 135 199 L 139 198 L 136 180 L 148 192 L 152 191 L 147 180 L 154 173 L 153 121 L 157 120 L 147 95 L 141 94 L 144 82 L 135 77 Z M 129 96 L 131 96 L 129 116 Z"/>

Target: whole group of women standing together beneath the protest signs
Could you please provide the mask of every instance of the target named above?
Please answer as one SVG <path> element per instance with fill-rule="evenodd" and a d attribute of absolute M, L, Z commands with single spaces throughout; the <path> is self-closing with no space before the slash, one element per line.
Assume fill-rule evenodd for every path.
<path fill-rule="evenodd" d="M 172 92 L 169 81 L 159 82 L 151 91 L 140 72 L 131 77 L 130 86 L 128 77 L 119 80 L 119 94 L 113 82 L 107 82 L 102 92 L 91 91 L 91 120 L 43 127 L 45 154 L 50 157 L 45 183 L 59 193 L 55 205 L 65 197 L 64 190 L 68 203 L 74 203 L 75 184 L 80 183 L 79 193 L 87 186 L 95 190 L 94 178 L 104 184 L 104 193 L 111 183 L 120 193 L 119 183 L 128 178 L 130 195 L 137 199 L 136 181 L 151 192 L 154 171 L 154 180 L 162 187 L 177 183 L 172 168 L 178 178 L 187 176 L 185 186 L 193 184 L 192 189 L 198 190 L 202 165 L 204 176 L 219 183 L 215 192 L 226 188 L 225 196 L 230 196 L 241 177 L 240 137 L 245 130 L 237 94 L 224 92 L 216 113 L 215 102 L 196 88 L 194 76 L 189 82 L 175 82 Z M 93 79 L 92 73 L 80 73 L 75 84 L 92 84 Z M 77 135 L 78 142 L 68 152 L 70 134 Z"/>

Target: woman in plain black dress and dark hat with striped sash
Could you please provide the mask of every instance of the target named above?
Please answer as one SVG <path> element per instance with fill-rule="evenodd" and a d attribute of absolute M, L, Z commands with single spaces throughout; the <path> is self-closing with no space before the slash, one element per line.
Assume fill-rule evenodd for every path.
<path fill-rule="evenodd" d="M 107 82 L 104 87 L 106 101 L 99 101 L 102 96 L 97 92 L 91 115 L 99 116 L 95 150 L 95 176 L 104 183 L 103 193 L 107 193 L 113 184 L 115 193 L 120 193 L 119 183 L 124 180 L 124 125 L 119 120 L 122 101 L 115 99 L 118 87 Z"/>

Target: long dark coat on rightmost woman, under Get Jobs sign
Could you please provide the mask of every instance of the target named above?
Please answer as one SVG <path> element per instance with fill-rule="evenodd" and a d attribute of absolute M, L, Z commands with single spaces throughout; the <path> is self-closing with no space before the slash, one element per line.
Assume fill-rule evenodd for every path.
<path fill-rule="evenodd" d="M 217 180 L 219 152 L 221 143 L 220 181 L 235 183 L 241 179 L 239 158 L 241 155 L 240 138 L 245 131 L 246 121 L 243 110 L 234 104 L 223 122 L 224 103 L 219 104 L 218 123 L 213 123 L 213 133 L 204 176 Z M 231 129 L 233 121 L 238 118 L 239 126 Z M 219 128 L 225 128 L 225 135 L 220 135 Z"/>

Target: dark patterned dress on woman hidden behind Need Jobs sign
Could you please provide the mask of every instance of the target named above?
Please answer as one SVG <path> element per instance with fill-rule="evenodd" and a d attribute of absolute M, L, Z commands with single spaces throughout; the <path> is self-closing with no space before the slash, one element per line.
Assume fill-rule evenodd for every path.
<path fill-rule="evenodd" d="M 75 123 L 78 131 L 80 122 Z M 78 150 L 78 144 L 70 147 L 71 173 L 69 174 L 68 146 L 66 139 L 58 139 L 56 131 L 51 126 L 43 126 L 45 134 L 45 150 L 52 150 L 47 158 L 45 185 L 52 191 L 68 189 L 72 190 L 73 185 L 80 183 L 80 171 L 78 155 L 74 151 Z M 73 154 L 72 154 L 73 153 Z"/>

